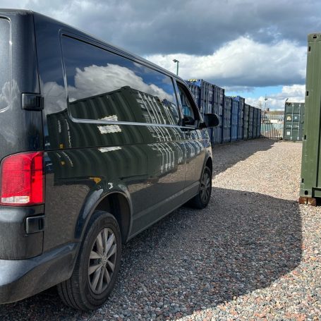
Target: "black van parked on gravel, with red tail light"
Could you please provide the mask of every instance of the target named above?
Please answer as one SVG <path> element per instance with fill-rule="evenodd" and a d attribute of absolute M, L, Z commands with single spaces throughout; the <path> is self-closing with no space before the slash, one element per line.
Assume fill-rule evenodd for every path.
<path fill-rule="evenodd" d="M 210 200 L 206 127 L 181 78 L 32 11 L 0 9 L 0 303 L 58 284 L 106 301 L 121 244 Z"/>

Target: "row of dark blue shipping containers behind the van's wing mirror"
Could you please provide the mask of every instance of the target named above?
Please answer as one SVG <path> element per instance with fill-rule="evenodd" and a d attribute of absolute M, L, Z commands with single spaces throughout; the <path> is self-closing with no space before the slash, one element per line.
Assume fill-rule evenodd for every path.
<path fill-rule="evenodd" d="M 246 104 L 240 96 L 225 96 L 225 90 L 202 79 L 186 80 L 201 114 L 217 114 L 219 126 L 209 128 L 212 144 L 260 138 L 261 109 Z"/>

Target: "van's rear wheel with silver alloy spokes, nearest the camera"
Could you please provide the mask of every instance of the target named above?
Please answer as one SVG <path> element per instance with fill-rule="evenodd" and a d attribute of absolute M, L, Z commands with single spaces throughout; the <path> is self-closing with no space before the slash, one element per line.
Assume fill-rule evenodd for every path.
<path fill-rule="evenodd" d="M 121 231 L 109 213 L 90 219 L 71 278 L 58 284 L 62 301 L 78 310 L 95 310 L 114 288 L 121 263 Z"/>

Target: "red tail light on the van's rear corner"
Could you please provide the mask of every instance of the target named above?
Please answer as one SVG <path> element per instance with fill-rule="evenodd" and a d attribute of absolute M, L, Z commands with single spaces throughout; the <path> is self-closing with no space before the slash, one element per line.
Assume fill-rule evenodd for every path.
<path fill-rule="evenodd" d="M 1 161 L 0 205 L 44 202 L 43 152 L 24 152 Z"/>

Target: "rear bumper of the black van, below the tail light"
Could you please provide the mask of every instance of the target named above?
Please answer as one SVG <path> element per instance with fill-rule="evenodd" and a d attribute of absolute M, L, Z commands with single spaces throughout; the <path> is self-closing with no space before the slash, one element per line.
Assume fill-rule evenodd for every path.
<path fill-rule="evenodd" d="M 71 277 L 78 243 L 27 260 L 0 260 L 0 303 L 32 296 Z"/>

